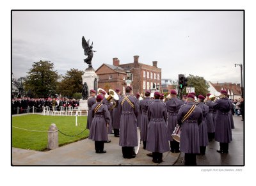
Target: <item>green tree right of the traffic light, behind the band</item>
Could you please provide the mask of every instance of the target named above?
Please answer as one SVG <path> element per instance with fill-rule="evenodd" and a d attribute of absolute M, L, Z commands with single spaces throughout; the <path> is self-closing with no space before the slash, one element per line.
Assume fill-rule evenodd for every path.
<path fill-rule="evenodd" d="M 191 75 L 189 74 L 188 77 L 188 86 L 195 87 L 195 93 L 196 96 L 198 95 L 206 95 L 209 93 L 208 88 L 209 84 L 208 82 L 204 79 L 204 77 L 199 77 L 198 75 Z M 186 94 L 186 88 L 183 89 L 183 94 Z"/>

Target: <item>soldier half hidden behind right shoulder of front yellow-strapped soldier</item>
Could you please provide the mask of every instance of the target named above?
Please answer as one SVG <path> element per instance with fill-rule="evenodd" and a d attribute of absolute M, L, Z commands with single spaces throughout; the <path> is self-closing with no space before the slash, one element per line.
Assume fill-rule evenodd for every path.
<path fill-rule="evenodd" d="M 204 104 L 205 97 L 203 95 L 198 95 L 198 107 L 202 110 L 203 121 L 199 125 L 199 144 L 200 144 L 200 154 L 205 155 L 206 146 L 209 144 L 206 116 L 209 112 L 209 107 Z"/>

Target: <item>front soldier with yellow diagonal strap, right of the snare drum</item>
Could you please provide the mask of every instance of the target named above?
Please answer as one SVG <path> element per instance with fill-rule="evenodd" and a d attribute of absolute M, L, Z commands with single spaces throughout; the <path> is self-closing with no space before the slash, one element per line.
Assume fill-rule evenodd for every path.
<path fill-rule="evenodd" d="M 199 127 L 203 120 L 202 109 L 195 106 L 193 109 L 195 96 L 189 94 L 187 104 L 180 107 L 177 115 L 178 124 L 181 126 L 180 132 L 180 151 L 185 153 L 185 165 L 196 166 L 196 153 L 200 153 Z M 188 116 L 187 118 L 184 116 Z"/>

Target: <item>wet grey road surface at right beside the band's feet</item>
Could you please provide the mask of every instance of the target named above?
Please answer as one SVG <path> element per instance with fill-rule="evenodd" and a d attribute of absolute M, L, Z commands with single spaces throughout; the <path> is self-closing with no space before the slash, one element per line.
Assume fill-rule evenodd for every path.
<path fill-rule="evenodd" d="M 233 116 L 235 129 L 232 129 L 232 142 L 228 154 L 216 152 L 220 144 L 212 141 L 206 148 L 205 155 L 196 155 L 198 166 L 243 166 L 244 165 L 244 123 L 241 116 Z M 175 166 L 184 165 L 184 153 L 180 154 Z"/>

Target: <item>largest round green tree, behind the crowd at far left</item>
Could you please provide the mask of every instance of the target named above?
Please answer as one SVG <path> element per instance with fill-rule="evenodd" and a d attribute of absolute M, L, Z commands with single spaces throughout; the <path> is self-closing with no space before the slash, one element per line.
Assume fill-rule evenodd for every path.
<path fill-rule="evenodd" d="M 35 97 L 49 97 L 56 93 L 59 75 L 54 71 L 54 63 L 50 62 L 34 62 L 26 76 L 24 88 L 30 90 Z"/>

